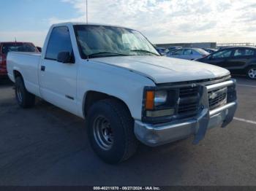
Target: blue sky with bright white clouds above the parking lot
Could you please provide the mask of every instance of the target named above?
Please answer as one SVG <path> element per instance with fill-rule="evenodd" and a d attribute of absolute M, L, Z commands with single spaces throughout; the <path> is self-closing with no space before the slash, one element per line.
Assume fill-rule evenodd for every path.
<path fill-rule="evenodd" d="M 88 0 L 89 23 L 125 26 L 154 43 L 256 43 L 256 0 Z M 0 0 L 0 42 L 42 46 L 50 25 L 86 21 L 86 0 Z"/>

